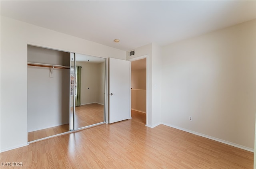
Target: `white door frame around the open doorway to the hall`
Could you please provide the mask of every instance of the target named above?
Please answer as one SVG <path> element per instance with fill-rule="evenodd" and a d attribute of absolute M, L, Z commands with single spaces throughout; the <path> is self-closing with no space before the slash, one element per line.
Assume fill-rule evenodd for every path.
<path fill-rule="evenodd" d="M 134 58 L 127 59 L 127 60 L 132 62 L 132 61 L 145 59 L 145 58 L 146 58 L 146 124 L 145 124 L 145 126 L 147 126 L 147 124 L 148 124 L 148 110 L 149 110 L 149 108 L 148 108 L 148 55 L 142 55 L 142 56 L 134 57 Z M 130 71 L 132 71 L 132 69 Z M 132 75 L 132 72 L 130 72 L 130 75 Z M 130 84 L 130 85 L 132 85 L 132 84 Z M 130 98 L 132 98 L 131 92 L 130 92 Z M 132 104 L 131 104 L 131 108 L 132 108 Z"/>

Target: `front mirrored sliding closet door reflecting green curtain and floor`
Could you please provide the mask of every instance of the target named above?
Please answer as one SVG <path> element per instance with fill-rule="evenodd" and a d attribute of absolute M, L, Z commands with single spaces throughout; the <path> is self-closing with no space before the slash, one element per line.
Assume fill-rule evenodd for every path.
<path fill-rule="evenodd" d="M 76 54 L 74 129 L 104 122 L 106 59 Z"/>

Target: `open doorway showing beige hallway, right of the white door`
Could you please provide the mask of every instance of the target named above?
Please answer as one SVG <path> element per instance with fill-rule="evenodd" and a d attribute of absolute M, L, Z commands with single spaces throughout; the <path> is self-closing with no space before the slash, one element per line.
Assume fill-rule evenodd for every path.
<path fill-rule="evenodd" d="M 147 110 L 147 57 L 131 64 L 131 116 L 146 125 Z"/>

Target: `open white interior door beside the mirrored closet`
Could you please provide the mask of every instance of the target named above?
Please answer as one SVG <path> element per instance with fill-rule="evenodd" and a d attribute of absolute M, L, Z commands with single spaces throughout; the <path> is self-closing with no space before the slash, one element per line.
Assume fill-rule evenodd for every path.
<path fill-rule="evenodd" d="M 130 61 L 110 58 L 109 61 L 109 123 L 130 118 Z"/>

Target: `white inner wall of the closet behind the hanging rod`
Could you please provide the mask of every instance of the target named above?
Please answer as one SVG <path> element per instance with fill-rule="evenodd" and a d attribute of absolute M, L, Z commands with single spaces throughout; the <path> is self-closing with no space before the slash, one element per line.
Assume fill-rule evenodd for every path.
<path fill-rule="evenodd" d="M 70 66 L 70 53 L 28 45 L 28 63 Z M 70 69 L 28 66 L 28 132 L 69 123 Z"/>

